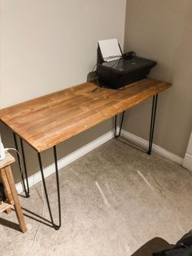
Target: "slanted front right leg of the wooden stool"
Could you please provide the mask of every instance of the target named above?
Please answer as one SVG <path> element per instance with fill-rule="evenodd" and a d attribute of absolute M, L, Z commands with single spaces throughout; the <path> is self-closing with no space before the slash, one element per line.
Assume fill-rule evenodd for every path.
<path fill-rule="evenodd" d="M 11 194 L 12 194 L 12 197 L 13 197 L 13 201 L 15 203 L 14 207 L 15 207 L 15 212 L 16 212 L 18 221 L 20 223 L 20 229 L 21 229 L 22 232 L 26 232 L 27 227 L 26 227 L 25 222 L 24 222 L 24 215 L 23 215 L 23 212 L 22 212 L 22 209 L 21 209 L 21 206 L 20 206 L 19 197 L 18 197 L 17 192 L 16 192 L 15 183 L 14 183 L 14 179 L 13 179 L 13 174 L 11 172 L 11 167 L 10 166 L 5 167 L 5 171 L 6 171 L 6 174 L 7 174 L 7 180 L 8 180 L 8 183 L 9 183 L 9 187 L 11 189 Z"/>

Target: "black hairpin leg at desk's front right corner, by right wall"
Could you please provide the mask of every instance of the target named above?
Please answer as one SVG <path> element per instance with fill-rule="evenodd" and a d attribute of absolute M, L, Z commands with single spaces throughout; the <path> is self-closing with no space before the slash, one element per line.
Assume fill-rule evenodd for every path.
<path fill-rule="evenodd" d="M 149 148 L 148 148 L 148 151 L 147 151 L 148 155 L 151 155 L 151 150 L 152 150 L 152 145 L 153 145 L 153 135 L 154 135 L 154 129 L 155 129 L 157 99 L 158 99 L 158 94 L 153 96 L 153 104 L 152 104 L 152 111 L 151 111 L 150 139 L 149 139 Z"/>

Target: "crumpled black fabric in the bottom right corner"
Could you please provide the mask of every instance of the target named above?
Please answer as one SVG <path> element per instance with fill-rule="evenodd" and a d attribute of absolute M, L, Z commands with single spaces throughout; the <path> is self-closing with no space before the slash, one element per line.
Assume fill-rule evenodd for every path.
<path fill-rule="evenodd" d="M 172 249 L 155 253 L 153 256 L 192 256 L 192 231 L 186 233 L 180 241 L 177 241 Z"/>

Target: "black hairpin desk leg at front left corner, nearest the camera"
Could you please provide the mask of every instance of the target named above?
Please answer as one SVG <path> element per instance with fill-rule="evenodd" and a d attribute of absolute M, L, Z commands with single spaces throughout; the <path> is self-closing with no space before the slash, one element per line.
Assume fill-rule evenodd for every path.
<path fill-rule="evenodd" d="M 41 170 L 43 188 L 44 188 L 45 195 L 46 195 L 46 203 L 47 203 L 47 206 L 48 206 L 48 210 L 50 212 L 50 221 L 52 223 L 52 226 L 55 228 L 55 230 L 59 230 L 59 227 L 61 227 L 61 203 L 60 203 L 60 192 L 59 192 L 59 171 L 58 171 L 58 164 L 57 164 L 56 147 L 54 147 L 54 157 L 55 157 L 55 170 L 56 170 L 55 174 L 56 174 L 57 193 L 58 193 L 58 206 L 59 206 L 59 225 L 56 225 L 54 223 L 53 215 L 52 215 L 52 212 L 51 212 L 51 209 L 50 209 L 50 201 L 49 201 L 49 196 L 48 196 L 47 189 L 46 189 L 46 180 L 45 180 L 44 173 L 43 173 L 41 153 L 38 152 L 37 155 L 38 155 L 39 166 L 40 166 L 40 170 Z"/>

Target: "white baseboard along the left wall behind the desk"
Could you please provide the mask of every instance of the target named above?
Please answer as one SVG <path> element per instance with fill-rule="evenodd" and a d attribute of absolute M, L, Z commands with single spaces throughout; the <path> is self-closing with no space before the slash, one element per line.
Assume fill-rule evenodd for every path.
<path fill-rule="evenodd" d="M 108 140 L 113 138 L 112 131 L 107 132 L 105 135 L 98 137 L 98 139 L 94 139 L 90 143 L 87 143 L 85 146 L 78 148 L 76 151 L 69 154 L 67 157 L 63 157 L 58 161 L 58 169 L 62 169 L 64 166 L 68 166 L 68 164 L 72 163 L 72 161 L 76 161 L 78 158 L 85 156 L 85 154 L 92 151 L 94 148 L 98 148 L 103 143 L 106 143 Z M 45 178 L 55 173 L 55 164 L 52 164 L 44 169 Z M 41 181 L 41 171 L 37 171 L 37 173 L 28 177 L 28 186 L 32 187 L 34 184 Z M 16 190 L 18 193 L 23 192 L 23 186 L 21 183 L 16 184 Z"/>

